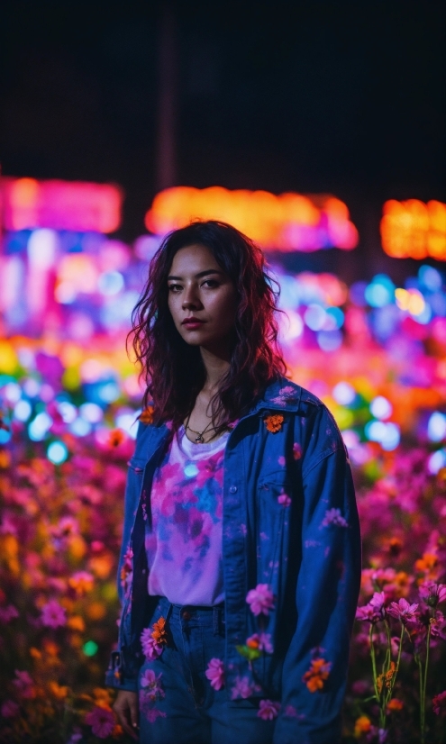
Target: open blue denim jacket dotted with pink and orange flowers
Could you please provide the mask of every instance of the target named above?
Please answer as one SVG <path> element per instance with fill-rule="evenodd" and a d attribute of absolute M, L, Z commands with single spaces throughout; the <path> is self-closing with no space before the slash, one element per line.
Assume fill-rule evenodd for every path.
<path fill-rule="evenodd" d="M 106 677 L 123 690 L 136 689 L 141 631 L 155 609 L 145 522 L 150 528 L 150 485 L 169 435 L 166 425 L 140 423 L 129 463 L 118 578 L 123 611 Z M 332 414 L 285 378 L 235 423 L 226 444 L 223 579 L 228 704 L 279 701 L 274 744 L 336 744 L 360 589 L 358 513 Z M 269 586 L 274 607 L 256 617 L 246 596 L 259 584 Z M 274 652 L 250 663 L 240 648 L 256 632 L 270 634 Z M 323 662 L 316 659 L 328 665 L 325 674 L 317 674 Z M 248 701 L 230 699 L 237 677 L 257 687 Z"/>

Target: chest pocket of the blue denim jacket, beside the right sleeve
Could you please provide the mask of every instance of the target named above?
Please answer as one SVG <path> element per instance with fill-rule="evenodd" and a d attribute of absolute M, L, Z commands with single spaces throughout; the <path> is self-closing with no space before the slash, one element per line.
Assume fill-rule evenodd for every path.
<path fill-rule="evenodd" d="M 259 583 L 278 584 L 291 496 L 283 471 L 266 476 L 257 492 L 257 573 Z"/>

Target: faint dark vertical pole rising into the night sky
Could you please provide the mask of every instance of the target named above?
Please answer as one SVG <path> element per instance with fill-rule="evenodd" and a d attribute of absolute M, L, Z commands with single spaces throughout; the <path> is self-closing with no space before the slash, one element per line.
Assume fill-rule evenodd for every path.
<path fill-rule="evenodd" d="M 177 185 L 176 98 L 177 44 L 175 14 L 169 0 L 161 6 L 159 24 L 159 110 L 157 134 L 157 190 Z"/>

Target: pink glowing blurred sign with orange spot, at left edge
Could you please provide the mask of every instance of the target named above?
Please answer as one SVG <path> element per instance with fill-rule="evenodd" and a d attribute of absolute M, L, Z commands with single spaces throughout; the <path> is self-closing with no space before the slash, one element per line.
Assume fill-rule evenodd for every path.
<path fill-rule="evenodd" d="M 121 224 L 123 193 L 118 186 L 4 178 L 1 190 L 6 230 L 114 232 Z"/>

